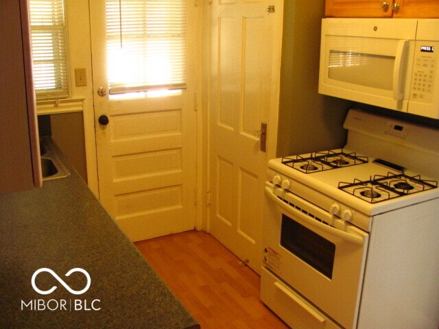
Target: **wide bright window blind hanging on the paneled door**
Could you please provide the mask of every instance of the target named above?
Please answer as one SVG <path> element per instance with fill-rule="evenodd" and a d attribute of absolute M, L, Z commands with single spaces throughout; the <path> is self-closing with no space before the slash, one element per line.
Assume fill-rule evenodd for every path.
<path fill-rule="evenodd" d="M 106 0 L 110 94 L 186 88 L 186 0 Z"/>

